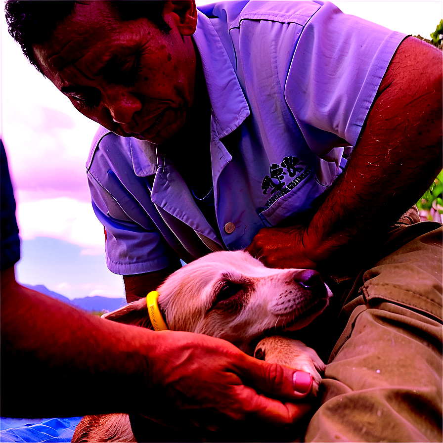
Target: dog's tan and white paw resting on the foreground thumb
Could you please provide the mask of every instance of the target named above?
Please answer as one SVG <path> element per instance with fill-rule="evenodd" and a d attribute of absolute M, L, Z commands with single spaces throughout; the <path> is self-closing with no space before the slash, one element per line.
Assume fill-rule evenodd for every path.
<path fill-rule="evenodd" d="M 308 372 L 312 375 L 311 395 L 318 394 L 321 383 L 320 373 L 324 372 L 326 365 L 313 349 L 308 348 L 299 340 L 281 336 L 266 337 L 257 345 L 254 357 Z"/>

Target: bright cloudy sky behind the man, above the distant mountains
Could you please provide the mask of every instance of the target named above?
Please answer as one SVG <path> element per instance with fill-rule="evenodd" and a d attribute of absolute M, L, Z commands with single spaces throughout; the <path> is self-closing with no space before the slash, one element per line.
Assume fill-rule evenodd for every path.
<path fill-rule="evenodd" d="M 208 1 L 197 1 L 205 4 Z M 344 12 L 429 38 L 440 0 L 335 1 Z M 18 281 L 70 299 L 123 297 L 105 264 L 103 227 L 90 205 L 85 164 L 97 124 L 74 109 L 25 59 L 1 14 L 0 132 L 17 200 Z"/>

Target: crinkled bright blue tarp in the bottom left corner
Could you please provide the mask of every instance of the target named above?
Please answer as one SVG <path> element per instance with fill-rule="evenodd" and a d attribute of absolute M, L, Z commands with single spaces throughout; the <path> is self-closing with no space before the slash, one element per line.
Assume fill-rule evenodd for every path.
<path fill-rule="evenodd" d="M 82 417 L 0 418 L 0 442 L 70 442 Z"/>

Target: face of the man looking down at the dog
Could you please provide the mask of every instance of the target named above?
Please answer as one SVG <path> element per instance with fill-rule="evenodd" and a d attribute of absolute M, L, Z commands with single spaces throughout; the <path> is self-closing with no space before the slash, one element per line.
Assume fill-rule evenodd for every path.
<path fill-rule="evenodd" d="M 164 18 L 170 34 L 145 18 L 121 21 L 105 1 L 76 4 L 34 52 L 83 115 L 118 135 L 163 143 L 183 126 L 195 79 L 191 32 L 167 8 Z"/>

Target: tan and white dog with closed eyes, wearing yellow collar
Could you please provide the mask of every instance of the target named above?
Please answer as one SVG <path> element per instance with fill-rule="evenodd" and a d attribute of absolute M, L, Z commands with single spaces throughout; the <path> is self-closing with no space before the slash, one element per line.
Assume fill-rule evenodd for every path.
<path fill-rule="evenodd" d="M 183 266 L 158 288 L 169 329 L 222 338 L 256 358 L 312 375 L 316 395 L 325 365 L 302 342 L 284 337 L 304 328 L 332 296 L 312 269 L 271 269 L 245 251 L 214 252 Z M 153 329 L 146 299 L 102 315 Z M 136 442 L 127 414 L 85 416 L 72 442 Z"/>

